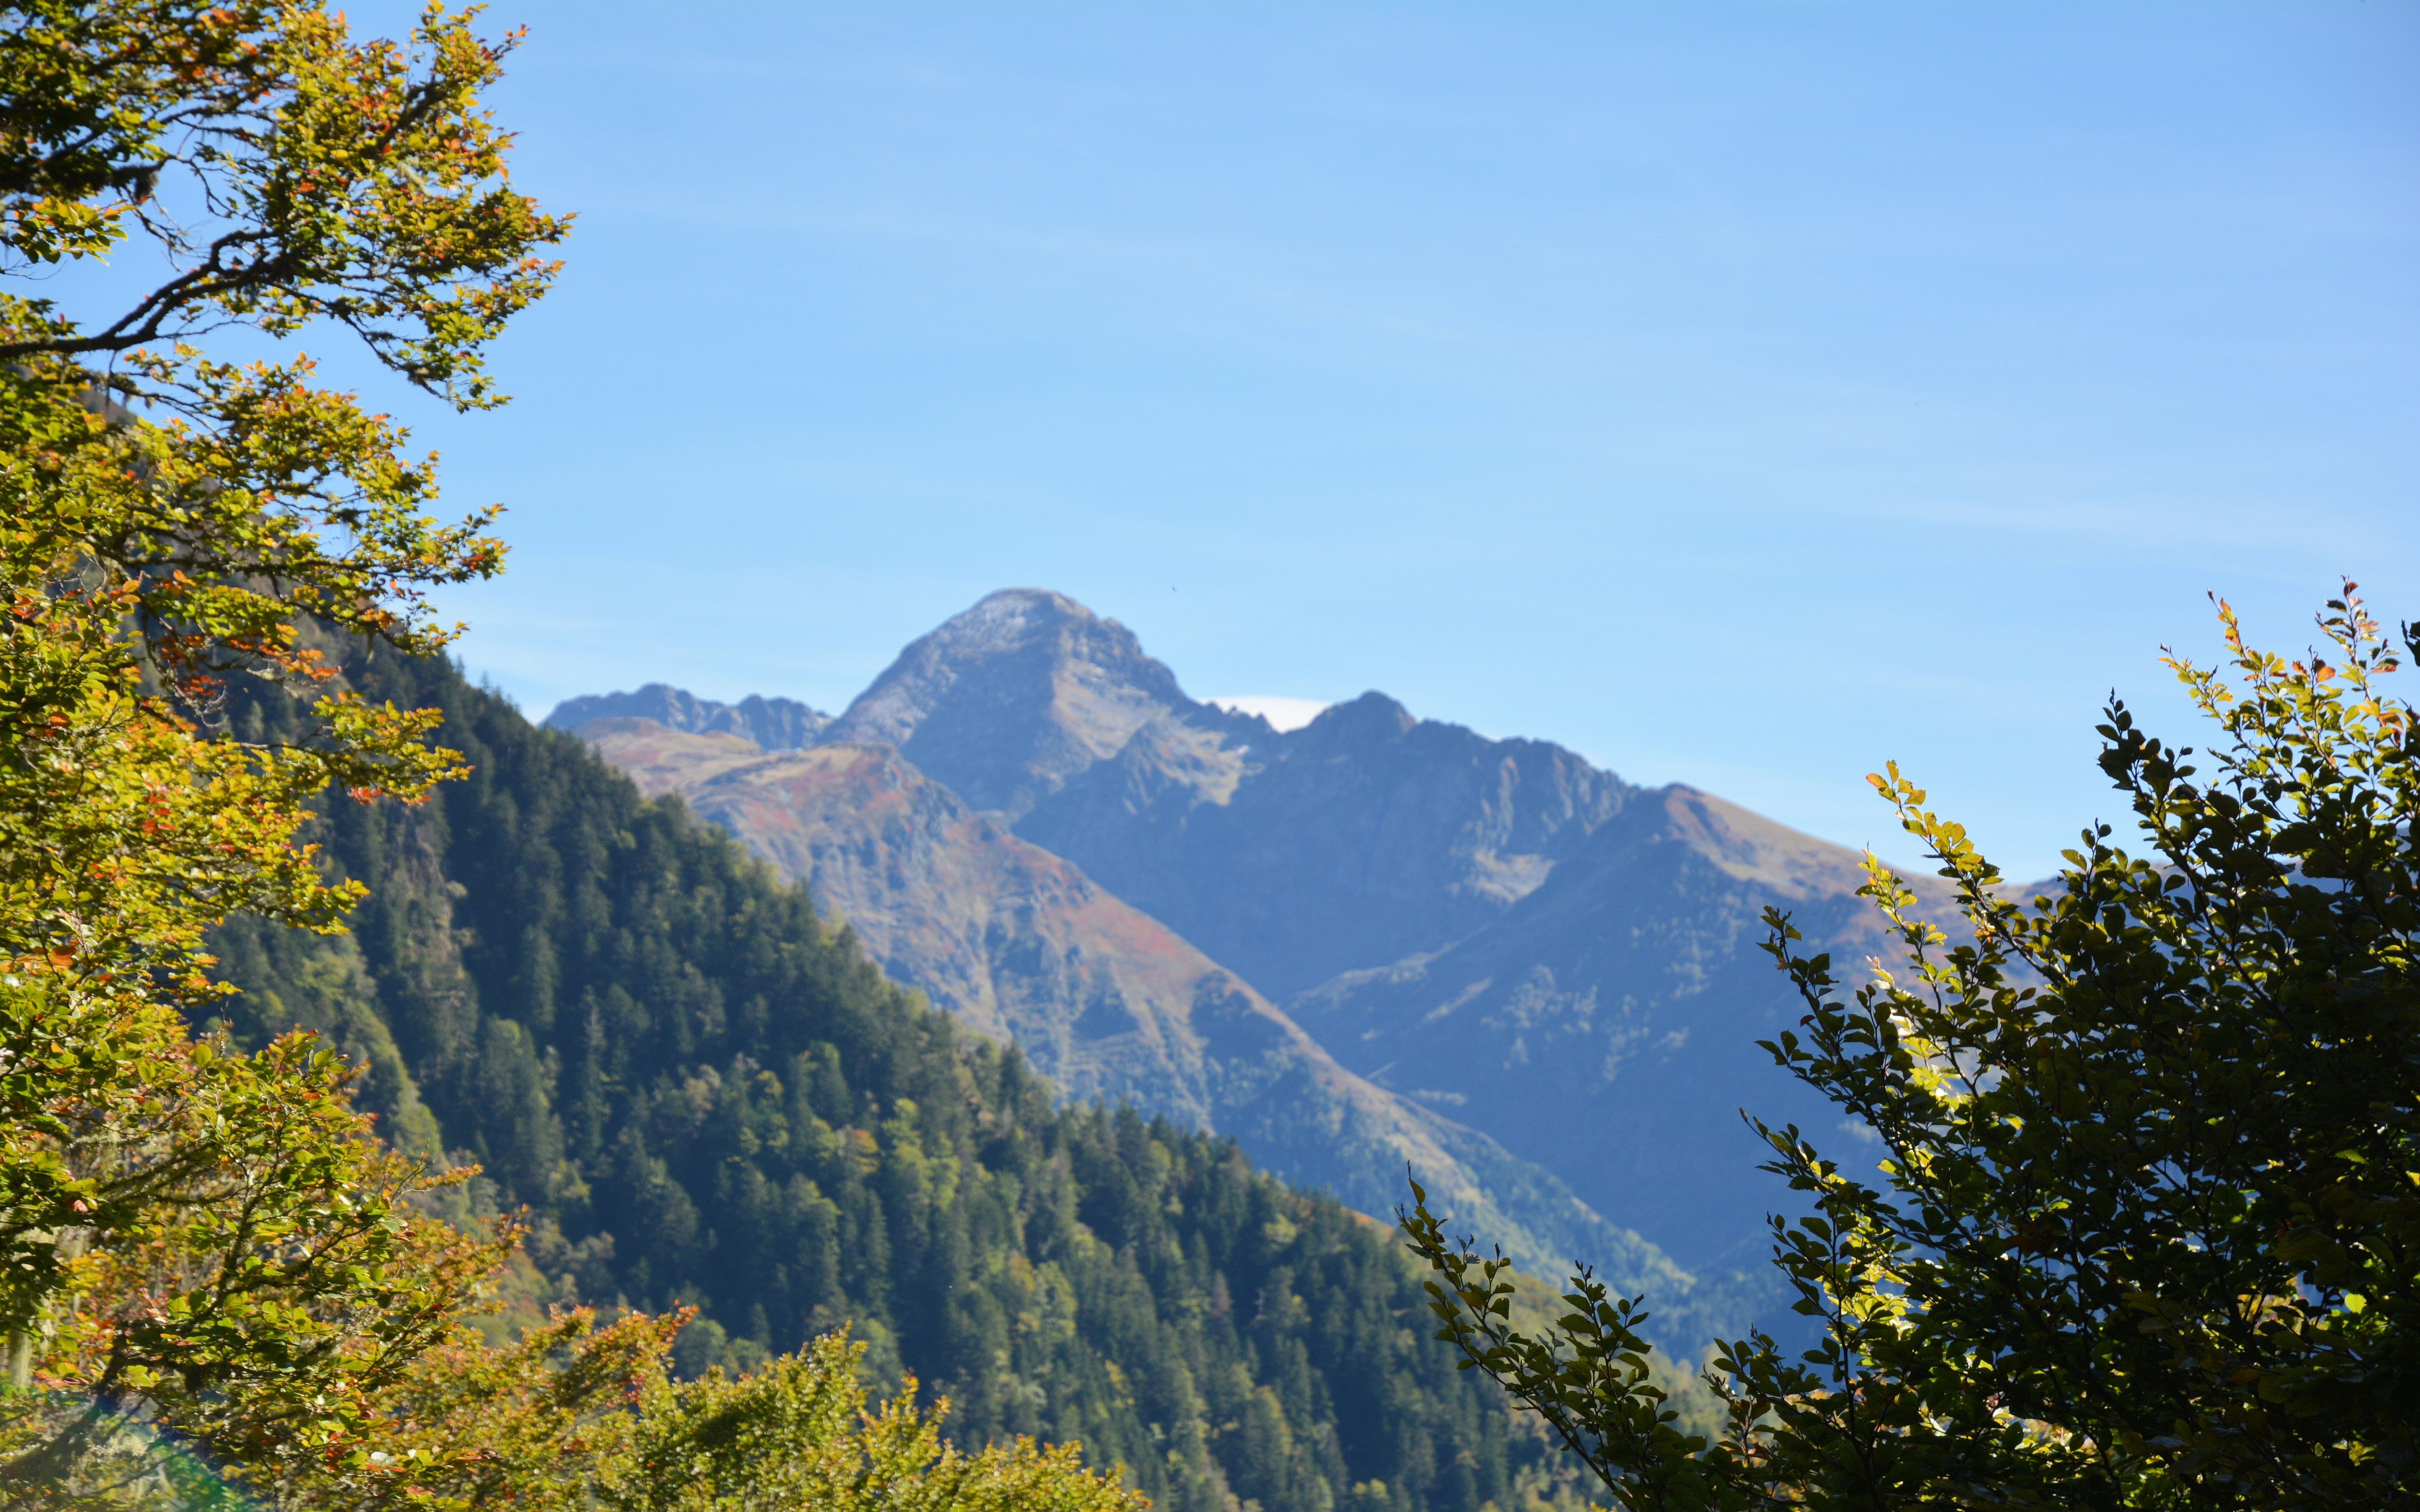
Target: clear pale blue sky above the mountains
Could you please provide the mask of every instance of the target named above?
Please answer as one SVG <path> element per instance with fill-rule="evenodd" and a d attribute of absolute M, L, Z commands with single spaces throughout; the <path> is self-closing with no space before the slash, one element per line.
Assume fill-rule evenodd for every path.
<path fill-rule="evenodd" d="M 390 5 L 356 7 L 392 24 Z M 2413 5 L 499 0 L 561 288 L 450 421 L 532 714 L 845 704 L 1002 585 L 1195 694 L 2026 876 L 2205 590 L 2420 617 Z M 2408 677 L 2420 694 L 2420 675 Z"/>

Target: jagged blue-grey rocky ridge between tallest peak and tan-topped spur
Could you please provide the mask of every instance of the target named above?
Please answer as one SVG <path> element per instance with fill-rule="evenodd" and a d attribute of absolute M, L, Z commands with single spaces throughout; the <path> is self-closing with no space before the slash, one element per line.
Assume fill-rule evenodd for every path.
<path fill-rule="evenodd" d="M 1370 692 L 1283 735 L 1171 711 L 1016 832 L 1283 997 L 1486 927 L 1631 791 Z"/>

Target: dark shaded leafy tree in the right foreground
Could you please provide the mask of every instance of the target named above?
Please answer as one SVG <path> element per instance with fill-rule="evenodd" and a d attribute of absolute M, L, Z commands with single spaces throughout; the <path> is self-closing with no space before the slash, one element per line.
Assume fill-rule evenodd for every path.
<path fill-rule="evenodd" d="M 1844 999 L 1769 914 L 1805 1016 L 1764 1048 L 1888 1159 L 1876 1181 L 1750 1120 L 1813 1207 L 1774 1219 L 1774 1263 L 1822 1340 L 1721 1343 L 1718 1442 L 1648 1381 L 1636 1299 L 1583 1268 L 1522 1333 L 1500 1258 L 1413 1188 L 1437 1338 L 1624 1507 L 2420 1495 L 2420 774 L 2381 687 L 2403 658 L 2352 583 L 2301 660 L 2219 622 L 2234 682 L 2168 656 L 2214 726 L 2200 757 L 2108 704 L 2142 854 L 2093 825 L 2018 902 L 1890 767 L 1871 781 L 1955 883 L 1958 943 L 1868 861 L 1905 963 Z"/>

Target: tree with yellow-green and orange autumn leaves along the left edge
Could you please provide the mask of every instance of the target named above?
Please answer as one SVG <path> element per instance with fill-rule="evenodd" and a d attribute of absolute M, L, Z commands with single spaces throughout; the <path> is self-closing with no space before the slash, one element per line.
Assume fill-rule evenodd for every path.
<path fill-rule="evenodd" d="M 431 518 L 433 460 L 310 358 L 206 344 L 351 331 L 455 406 L 499 404 L 479 353 L 566 227 L 508 186 L 479 106 L 508 48 L 443 5 L 404 44 L 278 0 L 0 7 L 12 1505 L 160 1495 L 184 1461 L 152 1464 L 155 1430 L 261 1483 L 368 1464 L 378 1391 L 511 1241 L 414 1207 L 431 1178 L 365 1137 L 327 1050 L 186 1031 L 223 992 L 208 927 L 339 927 L 353 890 L 295 844 L 315 793 L 411 801 L 455 772 L 433 716 L 344 694 L 298 743 L 235 740 L 227 680 L 324 680 L 302 614 L 433 653 L 453 631 L 426 590 L 501 564 L 494 510 Z M 48 298 L 133 249 L 169 273 L 126 307 Z"/>

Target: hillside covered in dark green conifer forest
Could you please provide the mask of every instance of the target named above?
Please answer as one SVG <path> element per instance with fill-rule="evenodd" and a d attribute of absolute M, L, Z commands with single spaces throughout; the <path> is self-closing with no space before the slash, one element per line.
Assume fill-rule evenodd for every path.
<path fill-rule="evenodd" d="M 448 663 L 353 648 L 472 777 L 336 798 L 353 934 L 235 922 L 230 1028 L 365 1057 L 392 1139 L 467 1149 L 540 1214 L 540 1294 L 695 1304 L 682 1362 L 852 1323 L 961 1439 L 1082 1439 L 1162 1507 L 1527 1505 L 1551 1456 L 1425 1340 L 1411 1263 L 1232 1144 L 1062 1108 L 886 982 L 803 888 Z M 283 694 L 240 694 L 249 738 Z"/>

